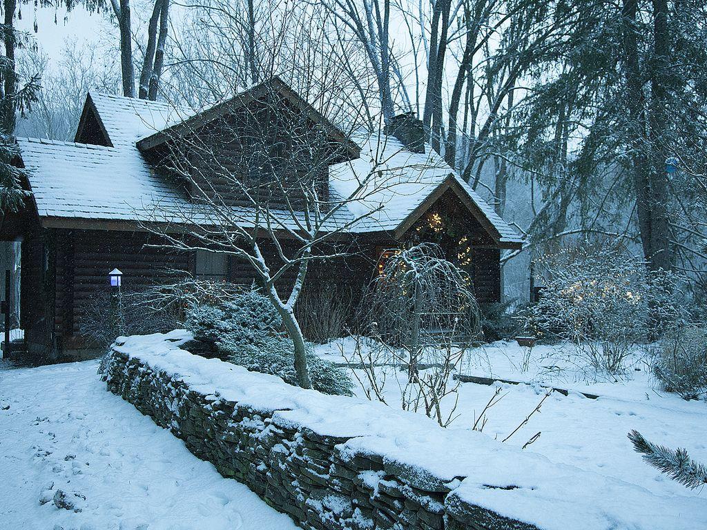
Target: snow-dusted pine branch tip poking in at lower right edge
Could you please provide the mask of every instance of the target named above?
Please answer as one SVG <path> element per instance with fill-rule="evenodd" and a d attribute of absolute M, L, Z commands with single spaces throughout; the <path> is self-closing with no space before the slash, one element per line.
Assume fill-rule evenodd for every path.
<path fill-rule="evenodd" d="M 629 440 L 633 449 L 643 454 L 643 459 L 651 466 L 670 476 L 687 488 L 699 488 L 707 484 L 707 466 L 694 461 L 686 449 L 670 449 L 646 440 L 640 432 L 631 430 Z"/>

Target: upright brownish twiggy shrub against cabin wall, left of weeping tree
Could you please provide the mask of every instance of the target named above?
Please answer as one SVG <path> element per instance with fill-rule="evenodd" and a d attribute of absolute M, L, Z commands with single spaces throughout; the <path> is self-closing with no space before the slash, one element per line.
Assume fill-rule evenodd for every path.
<path fill-rule="evenodd" d="M 305 338 L 325 344 L 345 335 L 354 297 L 351 289 L 336 283 L 308 283 L 297 300 L 295 312 Z"/>

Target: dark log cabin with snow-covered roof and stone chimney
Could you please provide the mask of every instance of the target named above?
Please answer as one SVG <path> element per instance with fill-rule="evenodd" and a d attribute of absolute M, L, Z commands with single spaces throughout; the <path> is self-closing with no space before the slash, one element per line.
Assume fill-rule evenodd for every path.
<path fill-rule="evenodd" d="M 170 170 L 165 160 L 178 151 L 175 139 L 188 135 L 199 136 L 200 144 L 214 153 L 222 153 L 211 148 L 226 136 L 243 145 L 235 138 L 238 132 L 233 133 L 243 129 L 231 127 L 226 134 L 223 124 L 243 122 L 247 110 L 256 117 L 256 126 L 271 126 L 267 113 L 252 111 L 273 97 L 277 105 L 295 109 L 316 126 L 322 145 L 336 146 L 317 171 L 321 197 L 334 204 L 337 197 L 352 197 L 352 187 L 364 175 L 376 177 L 359 185 L 356 200 L 340 204 L 328 221 L 356 251 L 317 263 L 308 274 L 310 285 L 332 282 L 362 289 L 391 249 L 433 241 L 469 272 L 479 302 L 501 300 L 501 251 L 520 247 L 522 237 L 425 143 L 414 114 L 400 114 L 374 134 L 346 135 L 279 78 L 201 112 L 90 92 L 73 142 L 17 140 L 21 157 L 16 164 L 28 170 L 23 186 L 31 194 L 23 210 L 6 216 L 0 238 L 21 241 L 21 326 L 27 355 L 49 360 L 91 352 L 81 333 L 85 308 L 109 289 L 113 269 L 122 271 L 122 288 L 159 283 L 175 270 L 196 278 L 251 283 L 249 264 L 226 254 L 151 245 L 159 237 L 147 227 L 158 210 L 185 212 L 199 204 L 194 182 L 197 189 L 218 192 L 229 208 L 245 207 L 236 187 L 228 179 L 218 180 L 219 171 L 210 172 L 209 164 L 221 171 L 227 166 L 220 155 L 211 162 L 201 160 L 200 175 L 208 182 L 199 185 L 191 179 L 191 187 L 175 175 L 175 164 Z M 281 150 L 294 148 L 278 136 L 271 135 Z M 193 152 L 191 156 L 193 160 Z M 227 170 L 245 179 L 235 166 Z M 377 178 L 387 179 L 385 186 L 376 187 Z M 269 200 L 298 204 L 295 192 L 280 191 L 284 195 L 270 194 Z M 169 224 L 178 230 L 174 218 Z"/>

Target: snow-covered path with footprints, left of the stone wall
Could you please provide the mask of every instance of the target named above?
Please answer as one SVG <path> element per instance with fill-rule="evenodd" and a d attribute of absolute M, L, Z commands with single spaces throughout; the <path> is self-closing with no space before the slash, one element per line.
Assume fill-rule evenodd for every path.
<path fill-rule="evenodd" d="M 0 372 L 0 530 L 296 528 L 107 392 L 97 367 Z M 59 490 L 81 512 L 59 509 Z"/>

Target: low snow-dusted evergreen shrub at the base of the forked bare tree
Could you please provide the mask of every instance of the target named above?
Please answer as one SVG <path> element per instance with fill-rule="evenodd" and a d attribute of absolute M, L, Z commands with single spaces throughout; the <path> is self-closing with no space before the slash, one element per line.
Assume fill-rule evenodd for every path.
<path fill-rule="evenodd" d="M 213 343 L 230 363 L 297 384 L 293 342 L 281 331 L 282 320 L 271 302 L 257 290 L 236 293 L 218 304 L 194 305 L 187 311 L 185 325 L 197 340 Z M 353 385 L 346 372 L 308 349 L 312 388 L 325 394 L 351 394 Z"/>

